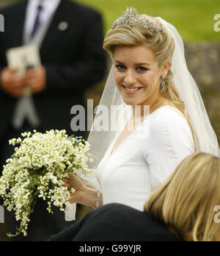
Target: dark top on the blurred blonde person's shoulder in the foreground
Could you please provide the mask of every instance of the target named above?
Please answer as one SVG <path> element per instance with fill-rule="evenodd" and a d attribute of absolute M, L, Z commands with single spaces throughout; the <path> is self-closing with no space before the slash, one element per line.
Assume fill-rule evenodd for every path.
<path fill-rule="evenodd" d="M 178 241 L 176 235 L 147 213 L 109 204 L 87 213 L 49 241 Z"/>

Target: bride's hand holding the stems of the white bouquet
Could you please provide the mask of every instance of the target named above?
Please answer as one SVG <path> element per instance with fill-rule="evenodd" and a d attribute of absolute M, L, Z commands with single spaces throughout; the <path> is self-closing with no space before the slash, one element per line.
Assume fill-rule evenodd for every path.
<path fill-rule="evenodd" d="M 87 190 L 87 186 L 79 179 L 76 174 L 70 173 L 69 177 L 63 178 L 64 186 L 71 189 L 74 188 L 75 192 L 70 193 L 70 203 L 84 202 L 84 193 Z"/>

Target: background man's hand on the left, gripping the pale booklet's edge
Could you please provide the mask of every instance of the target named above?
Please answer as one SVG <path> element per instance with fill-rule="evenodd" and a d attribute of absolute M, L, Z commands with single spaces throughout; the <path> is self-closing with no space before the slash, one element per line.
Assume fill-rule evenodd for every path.
<path fill-rule="evenodd" d="M 4 68 L 1 71 L 1 88 L 5 93 L 13 97 L 23 96 L 25 87 L 24 77 L 18 77 L 16 69 Z"/>

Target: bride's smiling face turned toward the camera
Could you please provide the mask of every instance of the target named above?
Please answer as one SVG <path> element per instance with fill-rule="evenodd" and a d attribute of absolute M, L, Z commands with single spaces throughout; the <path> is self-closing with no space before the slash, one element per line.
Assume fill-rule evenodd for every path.
<path fill-rule="evenodd" d="M 166 72 L 149 47 L 117 46 L 113 61 L 114 80 L 125 104 L 152 105 L 158 99 L 161 74 Z"/>

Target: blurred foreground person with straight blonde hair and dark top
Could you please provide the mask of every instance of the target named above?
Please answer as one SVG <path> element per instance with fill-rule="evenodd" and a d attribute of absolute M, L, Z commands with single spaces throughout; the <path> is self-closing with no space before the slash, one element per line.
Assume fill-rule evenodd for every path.
<path fill-rule="evenodd" d="M 220 158 L 197 152 L 153 192 L 144 213 L 109 204 L 51 241 L 220 241 L 218 205 Z"/>

